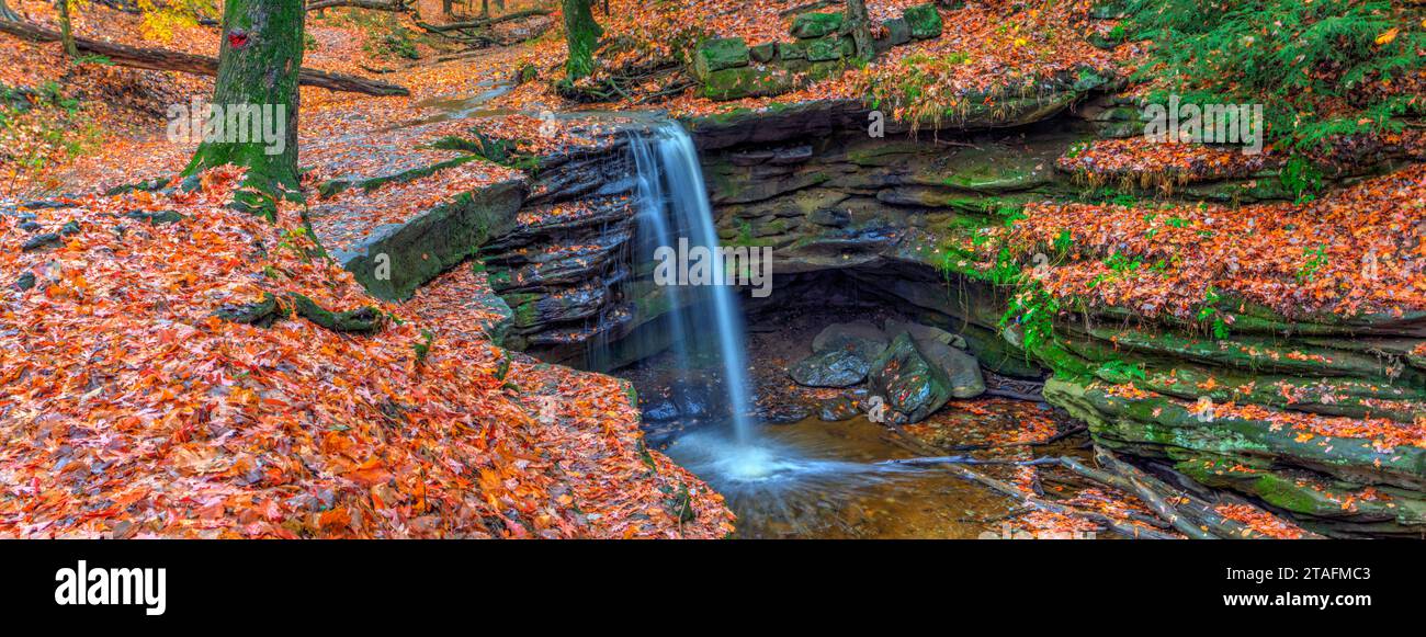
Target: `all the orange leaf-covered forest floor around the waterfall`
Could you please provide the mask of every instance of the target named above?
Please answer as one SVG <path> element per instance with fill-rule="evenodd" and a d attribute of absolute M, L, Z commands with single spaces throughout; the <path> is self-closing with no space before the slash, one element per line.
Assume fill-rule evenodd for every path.
<path fill-rule="evenodd" d="M 33 21 L 54 21 L 50 3 L 9 4 Z M 428 4 L 422 10 L 434 16 Z M 526 4 L 535 3 L 512 1 L 506 10 Z M 596 77 L 666 58 L 680 37 L 784 40 L 790 19 L 783 11 L 806 3 L 609 4 L 609 14 L 596 10 L 596 19 L 633 46 L 625 57 L 600 58 Z M 918 3 L 867 4 L 878 26 Z M 887 94 L 886 101 L 896 115 L 917 115 L 923 104 L 964 105 L 967 95 L 988 94 L 995 83 L 1012 86 L 1079 67 L 1127 73 L 1141 53 L 1135 43 L 1108 51 L 1089 46 L 1087 36 L 1112 21 L 1067 20 L 1064 11 L 1082 10 L 1082 3 L 1008 19 L 1001 4 L 973 3 L 940 38 L 774 98 L 712 101 L 687 91 L 653 104 L 635 95 L 596 107 L 676 115 L 766 110 L 881 94 L 878 88 L 914 74 L 918 81 L 930 78 L 927 98 L 907 103 Z M 426 145 L 456 128 L 515 140 L 530 152 L 586 143 L 589 121 L 540 118 L 545 111 L 580 108 L 552 88 L 566 56 L 558 17 L 532 20 L 526 27 L 553 24 L 518 46 L 442 61 L 452 47 L 421 34 L 409 16 L 309 16 L 304 66 L 395 83 L 411 95 L 304 87 L 299 148 L 301 165 L 309 168 L 304 185 L 441 161 L 446 151 Z M 78 13 L 76 29 L 135 46 L 160 43 L 210 56 L 218 48 L 214 27 L 155 27 L 97 3 Z M 924 61 L 947 51 L 961 51 L 964 60 Z M 406 57 L 412 54 L 419 60 Z M 519 81 L 526 70 L 535 78 Z M 274 227 L 222 208 L 235 180 L 230 171 L 207 174 L 193 194 L 101 195 L 185 165 L 197 144 L 170 140 L 164 114 L 168 105 L 205 100 L 211 78 L 73 64 L 57 44 L 0 36 L 0 86 L 23 88 L 26 103 L 7 110 L 0 128 L 0 211 L 9 212 L 0 217 L 0 385 L 7 389 L 0 398 L 6 485 L 0 534 L 722 537 L 730 532 L 732 514 L 720 496 L 643 447 L 626 386 L 489 343 L 491 316 L 469 301 L 489 294 L 482 274 L 461 266 L 406 304 L 378 302 L 349 274 L 308 257 L 311 237 L 295 211 Z M 1419 135 L 1387 143 L 1416 152 L 1422 144 Z M 1176 168 L 1171 177 L 1178 182 L 1204 165 L 1252 168 L 1233 165 L 1238 161 L 1195 145 L 1115 143 L 1062 160 L 1065 170 L 1149 181 L 1144 172 Z M 511 178 L 519 172 L 475 160 L 441 178 L 337 195 L 327 202 L 344 211 L 341 222 L 322 227 L 314 219 L 314 228 L 334 241 L 352 241 L 455 192 Z M 1231 218 L 1216 207 L 1164 208 L 1151 218 L 1135 207 L 1045 204 L 1030 207 L 1027 218 L 1002 234 L 1028 247 L 1077 228 L 1074 245 L 1084 258 L 1057 266 L 1045 281 L 1064 298 L 1088 294 L 1105 305 L 1192 314 L 1202 299 L 1184 291 L 1212 285 L 1285 309 L 1402 314 L 1426 309 L 1423 188 L 1426 175 L 1417 165 L 1315 202 L 1243 205 Z M 58 194 L 71 197 L 67 207 L 21 207 Z M 145 211 L 184 218 L 153 224 L 143 221 Z M 37 229 L 21 231 L 27 222 Z M 1305 224 L 1340 232 L 1309 244 L 1298 238 Z M 24 248 L 51 232 L 53 239 Z M 1105 261 L 1127 242 L 1147 252 L 1188 247 L 1192 257 L 1172 271 L 1107 276 Z M 1320 258 L 1312 252 L 1318 244 L 1326 249 Z M 1380 269 L 1363 269 L 1363 254 Z M 1315 264 L 1306 279 L 1305 264 Z M 1238 269 L 1266 275 L 1232 276 Z M 11 285 L 26 276 L 33 286 Z M 1303 281 L 1283 292 L 1288 282 Z M 334 311 L 376 306 L 389 318 L 375 336 L 337 333 L 305 319 L 258 328 L 212 318 L 264 294 L 291 292 Z M 556 395 L 559 400 L 548 400 Z M 545 405 L 559 409 L 550 413 Z M 1400 436 L 1378 435 L 1426 445 L 1423 428 L 1426 422 L 1417 422 Z M 1111 500 L 1094 506 L 1124 506 Z M 1075 520 L 1040 522 L 1071 527 Z"/>

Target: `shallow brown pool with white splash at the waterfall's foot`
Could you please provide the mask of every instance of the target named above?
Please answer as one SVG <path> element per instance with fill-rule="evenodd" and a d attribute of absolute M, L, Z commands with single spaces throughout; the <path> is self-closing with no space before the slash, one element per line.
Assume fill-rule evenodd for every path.
<path fill-rule="evenodd" d="M 975 539 L 1001 533 L 1014 503 L 914 457 L 866 418 L 757 426 L 742 447 L 707 426 L 665 449 L 737 513 L 736 537 Z"/>

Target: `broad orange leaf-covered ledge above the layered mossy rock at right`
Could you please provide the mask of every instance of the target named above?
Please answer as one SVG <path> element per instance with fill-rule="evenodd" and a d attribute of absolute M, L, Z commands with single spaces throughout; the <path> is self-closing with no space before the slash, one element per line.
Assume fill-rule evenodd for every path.
<path fill-rule="evenodd" d="M 1198 319 L 1205 291 L 1286 316 L 1426 311 L 1426 165 L 1305 204 L 1031 204 L 998 228 L 1062 252 L 1041 284 L 1061 298 Z"/>

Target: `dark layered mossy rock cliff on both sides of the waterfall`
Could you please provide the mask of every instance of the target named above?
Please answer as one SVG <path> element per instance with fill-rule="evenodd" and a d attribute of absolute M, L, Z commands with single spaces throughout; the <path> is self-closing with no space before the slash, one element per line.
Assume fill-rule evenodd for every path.
<path fill-rule="evenodd" d="M 1014 128 L 871 137 L 866 110 L 817 103 L 687 127 L 724 245 L 773 248 L 773 294 L 744 295 L 749 312 L 836 274 L 860 301 L 963 335 L 985 369 L 1047 379 L 1045 400 L 1085 420 L 1098 445 L 1184 489 L 1229 489 L 1333 534 L 1419 534 L 1426 442 L 1410 432 L 1426 420 L 1426 358 L 1413 353 L 1423 314 L 1288 319 L 1243 304 L 1232 333 L 1214 338 L 1131 308 L 1067 304 L 1054 348 L 1021 348 L 1021 328 L 1002 319 L 1014 289 L 975 275 L 954 245 L 1028 201 L 1105 197 L 1055 162 L 1077 143 L 1124 134 L 1131 117 L 1101 100 Z M 592 366 L 667 345 L 667 302 L 649 264 L 627 258 L 629 175 L 616 143 L 542 170 L 528 222 L 485 249 L 515 309 L 512 345 Z M 1209 175 L 1171 198 L 1289 197 L 1273 182 L 1266 171 Z M 1144 185 L 1119 194 L 1162 197 Z M 590 361 L 592 345 L 610 356 Z"/>

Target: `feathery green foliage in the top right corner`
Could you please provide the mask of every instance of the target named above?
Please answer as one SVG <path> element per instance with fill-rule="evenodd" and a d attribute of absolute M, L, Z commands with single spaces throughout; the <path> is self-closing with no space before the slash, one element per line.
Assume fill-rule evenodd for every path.
<path fill-rule="evenodd" d="M 1412 91 L 1380 88 L 1426 67 L 1426 34 L 1383 0 L 1129 0 L 1128 13 L 1155 44 L 1139 71 L 1151 101 L 1262 104 L 1265 141 L 1292 154 L 1400 131 Z"/>

